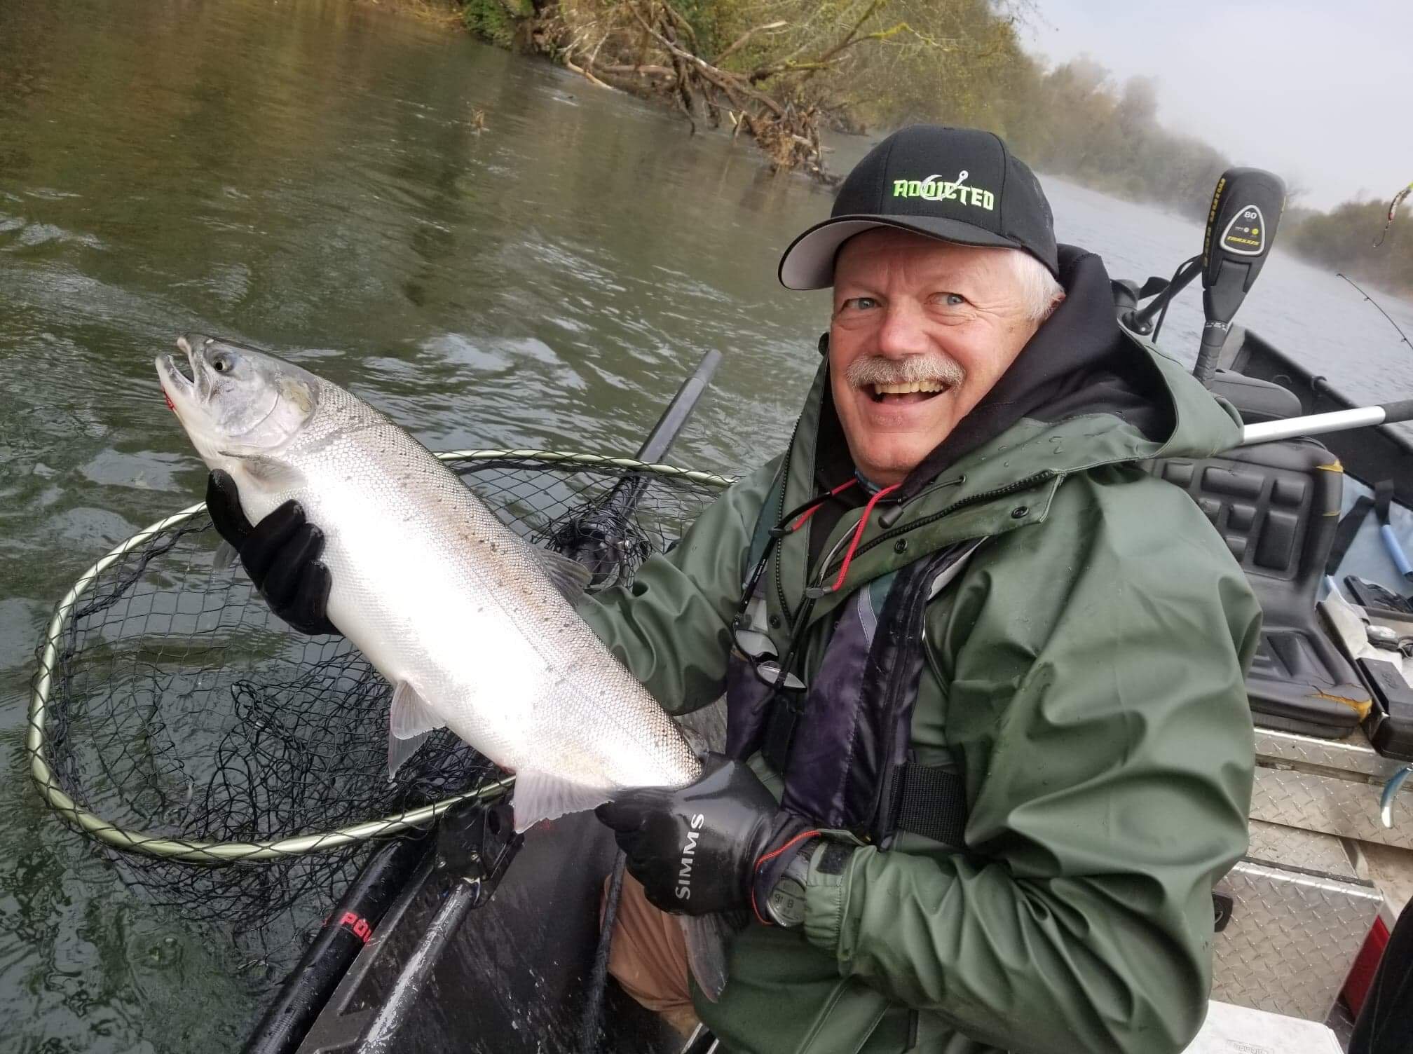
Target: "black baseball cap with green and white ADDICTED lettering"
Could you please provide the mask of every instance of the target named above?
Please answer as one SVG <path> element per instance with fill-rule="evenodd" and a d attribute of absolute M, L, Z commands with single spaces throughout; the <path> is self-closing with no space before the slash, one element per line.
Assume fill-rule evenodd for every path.
<path fill-rule="evenodd" d="M 1022 249 L 1060 277 L 1054 216 L 1040 181 L 991 131 L 913 124 L 885 138 L 839 186 L 829 219 L 790 243 L 780 284 L 832 285 L 839 246 L 870 227 Z"/>

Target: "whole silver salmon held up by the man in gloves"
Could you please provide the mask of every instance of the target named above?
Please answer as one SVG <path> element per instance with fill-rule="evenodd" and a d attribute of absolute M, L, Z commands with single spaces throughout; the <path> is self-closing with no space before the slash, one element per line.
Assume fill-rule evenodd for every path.
<path fill-rule="evenodd" d="M 157 359 L 202 461 L 252 523 L 288 499 L 324 531 L 328 615 L 393 685 L 389 770 L 449 728 L 514 773 L 516 828 L 701 774 L 687 739 L 574 610 L 588 571 L 523 541 L 425 446 L 336 384 L 188 333 Z M 726 931 L 685 923 L 708 996 Z"/>

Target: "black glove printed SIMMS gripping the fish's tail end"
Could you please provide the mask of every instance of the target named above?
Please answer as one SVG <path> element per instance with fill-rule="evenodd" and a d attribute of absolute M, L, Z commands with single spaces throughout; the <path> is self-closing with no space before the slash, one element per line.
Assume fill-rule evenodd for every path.
<path fill-rule="evenodd" d="M 644 788 L 595 810 L 613 828 L 649 903 L 704 916 L 750 907 L 767 923 L 766 897 L 794 855 L 820 832 L 786 812 L 749 767 L 708 754 L 697 783 Z"/>

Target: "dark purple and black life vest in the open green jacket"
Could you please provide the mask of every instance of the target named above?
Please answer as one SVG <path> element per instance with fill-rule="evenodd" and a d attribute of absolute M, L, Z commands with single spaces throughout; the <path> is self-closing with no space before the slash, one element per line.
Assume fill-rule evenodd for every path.
<path fill-rule="evenodd" d="M 839 606 L 824 657 L 805 684 L 798 644 L 812 600 L 796 615 L 794 646 L 777 656 L 766 633 L 762 584 L 773 543 L 827 499 L 807 507 L 803 519 L 793 520 L 797 510 L 786 526 L 757 523 L 753 533 L 746 564 L 753 571 L 742 585 L 726 673 L 726 753 L 745 760 L 759 752 L 784 781 L 781 805 L 820 827 L 883 848 L 897 831 L 961 846 L 962 777 L 952 766 L 918 764 L 909 742 L 926 660 L 924 609 L 979 541 L 958 543 L 855 589 Z M 855 541 L 872 507 L 861 516 Z M 835 588 L 842 582 L 841 574 Z"/>

